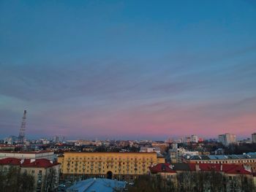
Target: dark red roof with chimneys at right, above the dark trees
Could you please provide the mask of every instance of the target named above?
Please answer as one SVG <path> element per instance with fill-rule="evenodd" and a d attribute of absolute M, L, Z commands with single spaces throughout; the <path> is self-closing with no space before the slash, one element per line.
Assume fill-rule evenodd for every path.
<path fill-rule="evenodd" d="M 199 168 L 199 171 L 203 172 L 214 171 L 225 172 L 227 174 L 252 174 L 240 164 L 189 164 L 189 168 L 191 171 L 196 171 Z"/>

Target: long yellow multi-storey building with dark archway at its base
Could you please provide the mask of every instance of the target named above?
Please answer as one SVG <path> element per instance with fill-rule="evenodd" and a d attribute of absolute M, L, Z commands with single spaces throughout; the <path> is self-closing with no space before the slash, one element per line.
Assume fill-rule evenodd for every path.
<path fill-rule="evenodd" d="M 148 167 L 164 163 L 157 153 L 74 153 L 59 156 L 64 177 L 107 177 L 134 180 L 148 174 Z"/>

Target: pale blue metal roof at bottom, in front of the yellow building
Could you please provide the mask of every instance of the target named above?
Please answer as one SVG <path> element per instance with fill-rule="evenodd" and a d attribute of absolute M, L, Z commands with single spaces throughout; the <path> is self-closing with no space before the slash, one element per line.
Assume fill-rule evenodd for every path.
<path fill-rule="evenodd" d="M 67 188 L 67 192 L 114 192 L 123 191 L 126 186 L 124 181 L 108 180 L 103 178 L 91 178 L 82 180 Z"/>

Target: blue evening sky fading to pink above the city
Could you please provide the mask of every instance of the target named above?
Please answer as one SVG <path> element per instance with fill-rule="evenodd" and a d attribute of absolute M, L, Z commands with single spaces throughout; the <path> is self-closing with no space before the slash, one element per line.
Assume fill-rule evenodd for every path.
<path fill-rule="evenodd" d="M 256 2 L 0 1 L 0 137 L 256 132 Z"/>

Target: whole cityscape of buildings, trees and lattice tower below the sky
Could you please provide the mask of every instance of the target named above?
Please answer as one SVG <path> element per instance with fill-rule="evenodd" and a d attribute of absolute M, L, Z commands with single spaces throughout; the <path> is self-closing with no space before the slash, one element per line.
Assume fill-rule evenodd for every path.
<path fill-rule="evenodd" d="M 24 191 L 255 190 L 256 133 L 243 140 L 234 134 L 165 141 L 69 140 L 61 136 L 31 140 L 26 139 L 25 130 L 26 111 L 19 136 L 4 138 L 0 145 L 1 177 L 14 174 L 14 169 L 16 174 L 31 176 L 23 181 L 30 183 L 20 183 Z M 4 182 L 1 180 L 2 191 L 15 185 Z"/>

